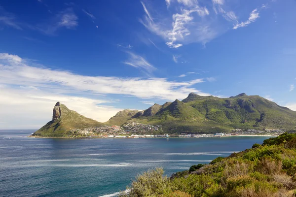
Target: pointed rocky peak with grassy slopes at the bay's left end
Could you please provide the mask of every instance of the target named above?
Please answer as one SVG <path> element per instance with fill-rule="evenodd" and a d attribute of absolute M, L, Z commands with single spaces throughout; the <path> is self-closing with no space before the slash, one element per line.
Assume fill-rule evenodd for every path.
<path fill-rule="evenodd" d="M 57 102 L 53 108 L 52 120 L 36 131 L 33 136 L 65 136 L 67 131 L 88 127 L 101 126 L 90 118 L 86 118 L 77 112 L 68 109 L 66 105 Z"/>

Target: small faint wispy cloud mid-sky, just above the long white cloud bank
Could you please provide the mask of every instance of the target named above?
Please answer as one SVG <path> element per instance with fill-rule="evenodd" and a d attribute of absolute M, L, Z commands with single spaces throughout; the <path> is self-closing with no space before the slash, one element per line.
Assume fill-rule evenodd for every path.
<path fill-rule="evenodd" d="M 126 65 L 134 66 L 136 68 L 141 68 L 147 70 L 151 73 L 156 68 L 152 66 L 147 60 L 145 60 L 142 56 L 139 56 L 132 52 L 127 52 L 130 58 L 124 62 Z"/>

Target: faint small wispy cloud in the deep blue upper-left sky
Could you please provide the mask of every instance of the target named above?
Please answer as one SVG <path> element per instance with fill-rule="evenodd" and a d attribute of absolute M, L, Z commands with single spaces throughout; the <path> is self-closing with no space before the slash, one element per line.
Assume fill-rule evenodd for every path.
<path fill-rule="evenodd" d="M 73 11 L 73 8 L 57 14 L 50 22 L 37 25 L 37 30 L 48 35 L 55 35 L 59 29 L 75 29 L 78 26 L 78 17 Z"/>

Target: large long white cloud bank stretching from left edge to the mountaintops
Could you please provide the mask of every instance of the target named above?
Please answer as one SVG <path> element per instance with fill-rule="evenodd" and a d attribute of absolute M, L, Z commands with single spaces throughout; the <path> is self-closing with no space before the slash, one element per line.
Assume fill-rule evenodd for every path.
<path fill-rule="evenodd" d="M 86 117 L 105 122 L 122 110 L 103 104 L 112 104 L 112 94 L 166 101 L 184 99 L 190 92 L 209 95 L 192 87 L 203 79 L 176 82 L 166 78 L 84 76 L 30 66 L 30 60 L 16 55 L 0 53 L 0 57 L 1 129 L 37 129 L 51 120 L 57 101 Z"/>

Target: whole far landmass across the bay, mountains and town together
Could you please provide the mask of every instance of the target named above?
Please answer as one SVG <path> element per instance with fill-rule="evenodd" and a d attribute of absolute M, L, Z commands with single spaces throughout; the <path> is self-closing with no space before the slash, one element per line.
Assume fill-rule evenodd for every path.
<path fill-rule="evenodd" d="M 271 134 L 296 129 L 296 112 L 259 96 L 242 93 L 218 98 L 190 93 L 182 101 L 154 104 L 146 110 L 119 111 L 106 123 L 86 118 L 57 102 L 50 122 L 37 137 L 213 136 Z"/>

